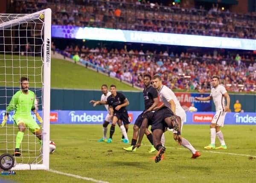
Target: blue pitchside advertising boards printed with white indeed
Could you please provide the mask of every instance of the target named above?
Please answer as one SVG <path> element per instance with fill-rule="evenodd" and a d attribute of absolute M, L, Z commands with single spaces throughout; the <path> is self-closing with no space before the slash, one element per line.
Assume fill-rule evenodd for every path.
<path fill-rule="evenodd" d="M 38 112 L 41 114 L 41 111 Z M 134 124 L 140 113 L 140 111 L 128 112 L 131 124 Z M 5 111 L 0 110 L 0 119 L 3 119 L 4 114 Z M 214 112 L 186 112 L 186 121 L 184 124 L 209 124 L 214 114 Z M 51 111 L 50 122 L 51 124 L 102 124 L 106 115 L 107 111 Z M 13 123 L 12 117 L 13 112 L 9 114 L 8 124 Z M 36 119 L 33 113 L 32 117 Z M 256 125 L 256 113 L 228 112 L 225 117 L 225 125 Z"/>

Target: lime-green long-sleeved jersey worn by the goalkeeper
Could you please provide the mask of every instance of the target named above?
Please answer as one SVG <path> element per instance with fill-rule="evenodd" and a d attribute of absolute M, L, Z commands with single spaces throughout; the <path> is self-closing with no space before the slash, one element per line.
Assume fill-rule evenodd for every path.
<path fill-rule="evenodd" d="M 35 93 L 28 90 L 28 94 L 24 94 L 20 90 L 13 95 L 6 112 L 14 110 L 14 117 L 28 118 L 32 117 L 32 109 L 35 109 Z"/>

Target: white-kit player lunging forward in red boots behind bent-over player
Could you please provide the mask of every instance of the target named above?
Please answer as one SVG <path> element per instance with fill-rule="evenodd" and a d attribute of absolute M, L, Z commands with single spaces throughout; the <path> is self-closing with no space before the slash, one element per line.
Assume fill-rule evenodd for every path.
<path fill-rule="evenodd" d="M 177 100 L 177 97 L 175 96 L 174 92 L 172 92 L 171 89 L 169 89 L 167 86 L 162 84 L 162 80 L 160 75 L 154 75 L 153 77 L 153 86 L 155 89 L 157 89 L 159 95 L 160 95 L 160 101 L 163 102 L 163 104 L 155 110 L 162 108 L 163 106 L 168 107 L 169 109 L 172 110 L 172 112 L 179 116 L 181 118 L 181 130 L 183 123 L 186 119 L 186 112 L 184 109 L 180 106 L 180 102 Z M 173 131 L 173 138 L 177 140 L 177 135 L 179 135 L 180 132 Z M 200 152 L 195 150 L 195 148 L 189 143 L 188 140 L 182 137 L 182 146 L 186 147 L 192 152 L 192 157 L 191 158 L 197 158 L 201 156 Z"/>

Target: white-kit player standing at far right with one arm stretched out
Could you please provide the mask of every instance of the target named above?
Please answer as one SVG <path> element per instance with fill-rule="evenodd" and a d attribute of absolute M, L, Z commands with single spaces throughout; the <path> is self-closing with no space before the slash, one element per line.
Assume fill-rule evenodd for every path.
<path fill-rule="evenodd" d="M 224 97 L 227 100 L 226 106 Z M 212 77 L 212 89 L 210 96 L 195 97 L 195 100 L 213 100 L 216 108 L 216 114 L 212 118 L 212 123 L 210 124 L 211 143 L 208 146 L 205 146 L 204 149 L 227 149 L 224 136 L 221 132 L 221 126 L 224 126 L 226 113 L 230 112 L 230 97 L 225 87 L 219 85 L 219 78 L 217 76 Z M 219 147 L 215 147 L 216 134 L 221 143 L 221 146 Z"/>

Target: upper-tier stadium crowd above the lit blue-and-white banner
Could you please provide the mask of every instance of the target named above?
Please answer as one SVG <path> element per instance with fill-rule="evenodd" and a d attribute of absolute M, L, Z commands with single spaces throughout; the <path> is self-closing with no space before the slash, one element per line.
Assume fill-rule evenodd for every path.
<path fill-rule="evenodd" d="M 13 0 L 16 13 L 51 8 L 52 24 L 256 39 L 256 13 L 142 0 Z"/>

